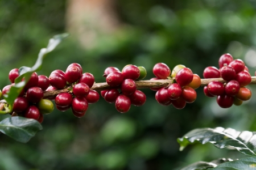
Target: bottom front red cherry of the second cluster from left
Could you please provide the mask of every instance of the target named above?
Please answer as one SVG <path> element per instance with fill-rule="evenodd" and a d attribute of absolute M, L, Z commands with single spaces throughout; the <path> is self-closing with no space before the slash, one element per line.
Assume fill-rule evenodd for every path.
<path fill-rule="evenodd" d="M 72 110 L 77 113 L 84 113 L 88 109 L 88 101 L 85 97 L 75 97 L 72 100 Z"/>

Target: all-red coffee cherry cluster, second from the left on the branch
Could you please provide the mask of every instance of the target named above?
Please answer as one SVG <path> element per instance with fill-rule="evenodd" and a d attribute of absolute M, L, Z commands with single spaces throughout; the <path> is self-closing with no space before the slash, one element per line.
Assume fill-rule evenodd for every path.
<path fill-rule="evenodd" d="M 72 108 L 76 117 L 85 115 L 88 104 L 96 103 L 100 95 L 95 90 L 90 90 L 94 84 L 94 76 L 90 73 L 82 73 L 82 67 L 78 63 L 72 63 L 64 72 L 54 70 L 49 76 L 49 86 L 46 91 L 71 87 L 69 92 L 61 92 L 51 100 L 55 100 L 56 108 L 59 111 L 67 111 Z"/>

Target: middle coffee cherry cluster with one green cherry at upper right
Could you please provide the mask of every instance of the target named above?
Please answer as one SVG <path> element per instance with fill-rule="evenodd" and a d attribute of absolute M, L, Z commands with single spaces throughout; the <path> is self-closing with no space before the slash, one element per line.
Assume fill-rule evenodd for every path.
<path fill-rule="evenodd" d="M 142 66 L 126 65 L 122 72 L 116 67 L 108 67 L 104 76 L 106 83 L 113 89 L 101 91 L 101 96 L 108 103 L 114 103 L 117 111 L 121 113 L 128 112 L 131 104 L 141 106 L 146 102 L 146 95 L 137 90 L 134 80 L 143 79 L 146 74 L 146 69 Z"/>

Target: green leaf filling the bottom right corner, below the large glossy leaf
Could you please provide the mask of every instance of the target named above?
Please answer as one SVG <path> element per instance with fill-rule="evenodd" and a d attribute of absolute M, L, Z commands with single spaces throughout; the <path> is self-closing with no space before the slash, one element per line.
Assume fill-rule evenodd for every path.
<path fill-rule="evenodd" d="M 251 156 L 249 158 L 242 158 L 240 160 L 234 160 L 232 162 L 226 162 L 218 165 L 210 170 L 256 170 L 256 156 Z"/>

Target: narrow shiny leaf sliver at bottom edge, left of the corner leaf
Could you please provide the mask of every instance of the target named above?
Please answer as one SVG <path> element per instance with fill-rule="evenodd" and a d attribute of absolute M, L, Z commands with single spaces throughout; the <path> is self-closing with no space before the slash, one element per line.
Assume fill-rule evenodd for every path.
<path fill-rule="evenodd" d="M 214 167 L 217 167 L 218 164 L 224 163 L 224 162 L 230 162 L 233 161 L 232 159 L 225 159 L 225 158 L 221 158 L 221 159 L 217 159 L 217 160 L 213 160 L 212 162 L 203 162 L 203 161 L 199 161 L 193 164 L 188 165 L 187 167 L 184 167 L 180 170 L 205 170 L 205 169 L 211 169 Z"/>

